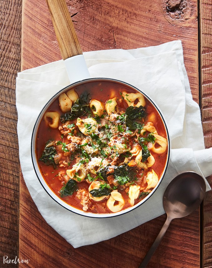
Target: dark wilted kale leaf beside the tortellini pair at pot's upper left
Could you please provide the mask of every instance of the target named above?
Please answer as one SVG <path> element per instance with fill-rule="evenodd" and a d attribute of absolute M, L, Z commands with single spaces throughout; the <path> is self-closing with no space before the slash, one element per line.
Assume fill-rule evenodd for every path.
<path fill-rule="evenodd" d="M 89 93 L 83 92 L 71 107 L 71 111 L 60 116 L 60 121 L 65 123 L 68 120 L 74 120 L 77 117 L 83 116 L 89 112 L 90 108 L 89 104 L 87 104 L 88 95 Z"/>

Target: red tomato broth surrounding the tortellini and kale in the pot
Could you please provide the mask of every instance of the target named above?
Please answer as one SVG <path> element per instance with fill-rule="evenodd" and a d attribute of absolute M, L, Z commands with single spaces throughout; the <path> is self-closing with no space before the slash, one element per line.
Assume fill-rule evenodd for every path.
<path fill-rule="evenodd" d="M 74 87 L 74 89 L 75 89 L 75 92 L 79 96 L 81 93 L 83 93 L 85 91 L 89 93 L 87 103 L 89 103 L 91 99 L 95 99 L 95 100 L 101 101 L 101 103 L 105 104 L 108 101 L 108 99 L 112 99 L 112 98 L 116 97 L 117 103 L 118 103 L 116 106 L 116 111 L 119 110 L 119 111 L 123 111 L 123 112 L 125 112 L 126 109 L 128 108 L 128 103 L 123 99 L 122 92 L 125 92 L 128 94 L 129 93 L 137 93 L 137 91 L 135 89 L 128 87 L 127 85 L 123 85 L 123 84 L 118 83 L 118 82 L 110 82 L 110 81 L 102 81 L 100 83 L 89 81 L 85 84 L 81 84 L 81 85 Z M 145 98 L 145 96 L 144 96 L 144 98 Z M 136 105 L 136 102 L 137 102 L 137 100 L 135 100 L 134 105 Z M 145 98 L 145 102 L 146 102 L 145 109 L 146 109 L 147 116 L 142 121 L 142 124 L 146 125 L 147 122 L 149 122 L 150 115 L 152 113 L 154 113 L 155 114 L 154 127 L 156 128 L 157 133 L 158 133 L 158 135 L 167 139 L 164 124 L 163 124 L 161 117 L 158 114 L 156 108 L 152 105 L 152 103 L 147 98 Z M 64 114 L 64 112 L 62 112 L 60 110 L 58 98 L 56 98 L 55 101 L 49 106 L 47 111 L 56 111 L 60 115 Z M 114 111 L 114 113 L 116 113 L 116 111 Z M 82 116 L 80 118 L 87 118 L 87 117 L 88 117 L 88 115 L 85 115 L 85 116 Z M 91 117 L 94 117 L 94 115 L 91 114 Z M 75 123 L 75 125 L 76 125 L 76 122 L 77 122 L 77 119 L 74 119 L 70 123 Z M 61 126 L 61 125 L 64 125 L 64 124 L 59 122 L 59 126 Z M 79 129 L 77 127 L 75 127 L 75 129 L 77 131 L 79 131 Z M 70 140 L 67 139 L 67 136 L 62 135 L 58 128 L 53 129 L 53 128 L 49 127 L 46 124 L 44 118 L 42 118 L 40 125 L 39 125 L 38 132 L 37 132 L 37 137 L 36 137 L 36 157 L 37 157 L 37 161 L 38 161 L 38 165 L 39 165 L 41 174 L 42 174 L 43 178 L 45 179 L 46 184 L 51 188 L 51 190 L 58 197 L 60 197 L 60 189 L 61 189 L 61 187 L 64 186 L 66 181 L 64 181 L 64 179 L 59 178 L 59 174 L 60 174 L 60 172 L 66 172 L 66 170 L 71 169 L 71 167 L 76 163 L 76 160 L 73 157 L 69 156 L 70 160 L 68 162 L 68 165 L 65 167 L 57 165 L 56 168 L 54 168 L 53 165 L 45 165 L 44 162 L 40 161 L 39 159 L 42 155 L 42 152 L 45 148 L 45 144 L 48 140 L 61 141 L 61 142 L 66 143 L 66 144 L 70 143 Z M 127 142 L 128 142 L 128 145 L 132 146 L 131 139 L 128 139 Z M 156 147 L 157 147 L 157 145 L 156 145 Z M 137 171 L 137 174 L 136 174 L 136 177 L 138 179 L 137 179 L 137 181 L 135 181 L 135 184 L 141 185 L 140 192 L 146 191 L 145 185 L 147 185 L 147 183 L 145 182 L 145 176 L 147 175 L 147 172 L 153 169 L 155 171 L 155 173 L 157 174 L 158 180 L 159 180 L 164 169 L 165 169 L 165 166 L 166 166 L 167 149 L 164 153 L 161 153 L 161 154 L 157 154 L 157 153 L 154 153 L 152 151 L 151 151 L 151 154 L 155 159 L 155 163 L 151 166 L 150 169 L 148 169 L 148 170 L 140 169 Z M 134 159 L 134 158 L 135 157 L 132 157 L 132 159 Z M 66 159 L 67 159 L 67 156 L 66 156 Z M 120 162 L 121 161 L 119 161 L 119 163 Z M 107 181 L 107 183 L 108 183 L 108 181 Z M 82 180 L 80 182 L 77 182 L 77 184 L 78 184 L 77 191 L 75 191 L 70 196 L 60 197 L 60 199 L 64 200 L 66 203 L 70 204 L 71 206 L 82 210 L 82 204 L 80 203 L 81 200 L 76 195 L 80 189 L 85 189 L 88 192 L 88 188 L 89 188 L 90 183 L 86 180 Z M 113 183 L 110 185 L 114 187 Z M 123 185 L 118 185 L 117 189 L 118 189 L 118 192 L 120 192 L 122 194 L 122 197 L 124 199 L 124 205 L 123 205 L 122 210 L 131 207 L 131 205 L 129 203 L 129 196 L 128 196 L 129 186 L 126 187 Z M 150 189 L 150 191 L 151 190 L 152 189 Z M 145 196 L 146 195 L 144 195 L 140 199 L 139 198 L 135 199 L 134 205 L 137 204 L 138 202 L 140 202 L 143 198 L 145 198 Z M 102 201 L 97 202 L 97 201 L 90 199 L 89 200 L 89 208 L 87 209 L 87 212 L 113 213 L 107 207 L 107 200 L 108 200 L 108 198 L 105 198 Z M 117 201 L 115 201 L 115 204 L 116 203 L 117 203 Z"/>

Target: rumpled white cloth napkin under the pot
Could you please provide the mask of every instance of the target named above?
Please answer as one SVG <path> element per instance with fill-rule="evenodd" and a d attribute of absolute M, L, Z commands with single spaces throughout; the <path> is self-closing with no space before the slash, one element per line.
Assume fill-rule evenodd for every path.
<path fill-rule="evenodd" d="M 200 109 L 192 100 L 181 41 L 134 50 L 86 52 L 84 57 L 91 77 L 120 79 L 147 93 L 165 116 L 172 145 L 166 175 L 142 206 L 114 218 L 87 218 L 69 212 L 42 188 L 30 153 L 31 133 L 41 108 L 58 90 L 70 84 L 64 62 L 18 73 L 17 131 L 23 176 L 43 218 L 74 247 L 115 237 L 165 213 L 162 196 L 176 175 L 184 171 L 195 171 L 203 177 L 212 174 L 212 148 L 204 147 Z M 210 190 L 207 181 L 206 187 Z"/>

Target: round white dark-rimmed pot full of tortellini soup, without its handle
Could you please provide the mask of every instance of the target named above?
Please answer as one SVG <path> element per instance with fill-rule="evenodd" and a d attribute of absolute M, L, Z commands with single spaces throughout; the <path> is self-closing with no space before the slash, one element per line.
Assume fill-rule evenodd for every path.
<path fill-rule="evenodd" d="M 154 194 L 168 166 L 170 138 L 144 92 L 114 79 L 86 79 L 42 109 L 31 156 L 52 202 L 83 216 L 113 217 Z"/>

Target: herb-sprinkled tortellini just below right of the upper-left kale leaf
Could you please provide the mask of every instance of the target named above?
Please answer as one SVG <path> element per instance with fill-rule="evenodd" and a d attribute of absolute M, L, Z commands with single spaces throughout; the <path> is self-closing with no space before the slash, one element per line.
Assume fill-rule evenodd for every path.
<path fill-rule="evenodd" d="M 89 136 L 98 130 L 97 122 L 92 117 L 85 119 L 81 119 L 78 117 L 76 125 L 79 130 L 86 136 Z"/>

